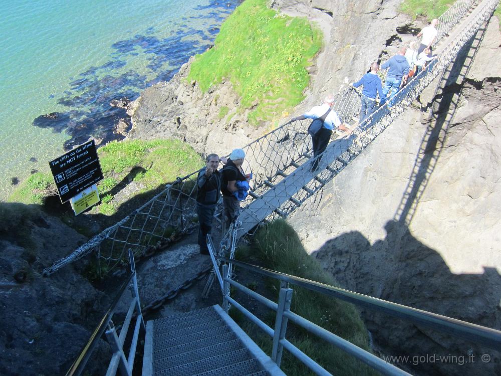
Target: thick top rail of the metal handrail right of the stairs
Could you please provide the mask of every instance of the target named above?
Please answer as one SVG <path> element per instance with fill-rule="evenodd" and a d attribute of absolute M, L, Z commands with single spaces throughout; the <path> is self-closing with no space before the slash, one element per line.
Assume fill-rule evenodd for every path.
<path fill-rule="evenodd" d="M 280 273 L 271 269 L 248 264 L 238 260 L 230 260 L 226 257 L 217 256 L 217 259 L 224 262 L 231 262 L 244 269 L 257 272 L 267 277 L 279 279 L 283 282 L 320 292 L 349 303 L 384 312 L 386 314 L 402 318 L 413 323 L 418 323 L 435 330 L 453 334 L 455 336 L 468 339 L 492 349 L 499 349 L 501 346 L 501 331 L 472 324 L 455 318 L 442 316 L 436 313 L 424 311 L 417 308 L 408 307 L 402 304 L 389 302 L 383 299 L 360 294 L 339 287 L 326 285 L 324 283 L 311 281 L 305 278 Z"/>

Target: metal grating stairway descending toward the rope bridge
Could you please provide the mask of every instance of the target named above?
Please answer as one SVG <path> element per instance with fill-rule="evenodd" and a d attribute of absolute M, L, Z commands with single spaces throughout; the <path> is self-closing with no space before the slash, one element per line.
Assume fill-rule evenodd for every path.
<path fill-rule="evenodd" d="M 218 305 L 148 321 L 143 375 L 284 375 Z"/>

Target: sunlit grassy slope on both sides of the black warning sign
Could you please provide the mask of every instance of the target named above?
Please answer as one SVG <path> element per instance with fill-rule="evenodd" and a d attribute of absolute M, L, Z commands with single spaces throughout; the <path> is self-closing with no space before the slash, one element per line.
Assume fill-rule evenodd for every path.
<path fill-rule="evenodd" d="M 193 172 L 203 164 L 193 148 L 179 140 L 112 141 L 100 147 L 98 155 L 105 178 L 98 183 L 102 203 L 94 211 L 106 215 L 116 210 L 110 191 L 127 175 L 144 185 L 138 192 L 141 193 Z M 132 168 L 137 172 L 130 174 Z M 43 204 L 49 189 L 55 190 L 50 172 L 37 172 L 24 181 L 8 201 Z"/>

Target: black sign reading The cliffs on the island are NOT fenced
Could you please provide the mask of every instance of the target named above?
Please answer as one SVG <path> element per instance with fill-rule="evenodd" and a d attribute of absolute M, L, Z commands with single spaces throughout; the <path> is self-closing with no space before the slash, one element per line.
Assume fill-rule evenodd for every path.
<path fill-rule="evenodd" d="M 103 179 L 94 140 L 51 160 L 49 165 L 62 203 Z"/>

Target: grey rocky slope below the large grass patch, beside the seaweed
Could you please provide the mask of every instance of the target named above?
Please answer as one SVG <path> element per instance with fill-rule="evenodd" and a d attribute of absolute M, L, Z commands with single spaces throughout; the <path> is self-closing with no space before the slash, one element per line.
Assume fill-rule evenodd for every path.
<path fill-rule="evenodd" d="M 229 122 L 219 110 L 238 107 L 239 98 L 229 81 L 202 93 L 188 82 L 193 58 L 181 66 L 169 82 L 154 85 L 141 93 L 131 106 L 133 128 L 129 138 L 179 138 L 199 153 L 226 154 L 263 133 L 263 129 L 245 126 L 248 110 L 234 115 Z"/>

